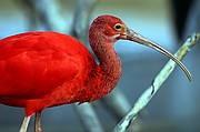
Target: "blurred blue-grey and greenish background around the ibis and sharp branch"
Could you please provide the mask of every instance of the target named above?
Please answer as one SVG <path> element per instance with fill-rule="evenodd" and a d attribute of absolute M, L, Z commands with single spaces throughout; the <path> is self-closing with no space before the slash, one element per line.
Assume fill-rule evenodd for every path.
<path fill-rule="evenodd" d="M 0 0 L 0 39 L 29 30 L 53 30 L 76 37 L 71 28 L 77 14 L 84 10 L 83 7 L 78 9 L 78 2 L 83 0 Z M 129 28 L 172 53 L 188 35 L 200 31 L 199 0 L 100 0 L 90 8 L 89 23 L 99 14 L 117 16 Z M 126 98 L 130 108 L 169 59 L 128 41 L 118 41 L 114 48 L 123 67 L 122 78 L 114 91 Z M 193 75 L 193 83 L 177 68 L 140 113 L 136 125 L 139 129 L 130 132 L 200 132 L 199 55 L 200 42 L 183 59 Z M 108 110 L 103 105 L 103 101 L 96 101 L 91 105 L 106 132 L 111 131 L 120 121 L 112 114 L 112 109 Z M 0 132 L 18 131 L 23 115 L 22 109 L 0 104 Z M 84 131 L 71 104 L 47 109 L 42 115 L 43 130 L 47 132 Z M 29 131 L 32 128 L 33 120 Z"/>

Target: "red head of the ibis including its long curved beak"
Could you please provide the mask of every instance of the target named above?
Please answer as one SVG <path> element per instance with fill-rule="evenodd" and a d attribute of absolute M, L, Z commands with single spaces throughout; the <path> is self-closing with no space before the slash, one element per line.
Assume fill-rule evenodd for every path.
<path fill-rule="evenodd" d="M 89 38 L 90 38 L 90 44 L 99 43 L 98 41 L 103 41 L 104 43 L 114 43 L 117 40 L 121 39 L 121 40 L 134 41 L 140 44 L 147 45 L 172 59 L 184 71 L 189 81 L 192 81 L 192 77 L 188 71 L 188 69 L 173 54 L 171 54 L 169 51 L 167 51 L 164 48 L 157 44 L 156 42 L 129 29 L 117 17 L 99 16 L 98 18 L 96 18 L 89 30 Z"/>

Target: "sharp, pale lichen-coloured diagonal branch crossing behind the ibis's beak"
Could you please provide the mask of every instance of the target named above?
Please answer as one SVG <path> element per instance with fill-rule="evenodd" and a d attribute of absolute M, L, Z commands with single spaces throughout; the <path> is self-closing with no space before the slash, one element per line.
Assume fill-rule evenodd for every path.
<path fill-rule="evenodd" d="M 190 49 L 196 44 L 196 42 L 199 39 L 200 39 L 200 33 L 193 33 L 191 37 L 189 37 L 187 39 L 187 41 L 177 51 L 177 53 L 174 55 L 179 60 L 182 60 L 182 58 L 190 51 Z M 151 98 L 160 89 L 160 87 L 167 80 L 169 74 L 173 71 L 176 65 L 177 64 L 171 60 L 164 65 L 164 68 L 160 71 L 160 73 L 152 81 L 152 84 L 141 94 L 141 97 L 134 103 L 131 111 L 114 128 L 113 132 L 124 132 L 128 129 L 128 126 L 137 118 L 137 114 L 149 103 Z"/>

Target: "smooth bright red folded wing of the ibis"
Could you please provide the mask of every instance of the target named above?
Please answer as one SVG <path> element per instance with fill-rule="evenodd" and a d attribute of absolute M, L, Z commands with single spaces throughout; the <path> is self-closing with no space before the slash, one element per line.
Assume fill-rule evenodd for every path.
<path fill-rule="evenodd" d="M 0 40 L 0 97 L 42 98 L 81 75 L 92 55 L 78 40 L 28 32 Z"/>

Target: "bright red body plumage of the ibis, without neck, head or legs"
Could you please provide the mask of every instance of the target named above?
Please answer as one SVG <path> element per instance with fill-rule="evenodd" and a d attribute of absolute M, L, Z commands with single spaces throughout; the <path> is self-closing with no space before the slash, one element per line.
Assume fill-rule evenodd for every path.
<path fill-rule="evenodd" d="M 42 31 L 2 39 L 0 102 L 26 108 L 28 116 L 47 106 L 89 101 L 81 94 L 87 77 L 98 69 L 88 49 L 66 34 Z"/>

